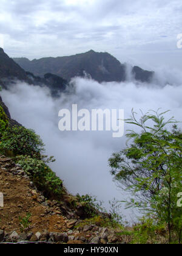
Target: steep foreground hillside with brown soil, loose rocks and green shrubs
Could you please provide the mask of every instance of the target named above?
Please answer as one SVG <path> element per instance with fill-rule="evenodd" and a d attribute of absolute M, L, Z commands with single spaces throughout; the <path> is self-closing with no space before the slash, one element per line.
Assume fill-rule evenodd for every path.
<path fill-rule="evenodd" d="M 111 216 L 91 197 L 67 192 L 47 165 L 52 160 L 41 155 L 38 135 L 12 126 L 16 122 L 10 123 L 8 108 L 0 103 L 0 243 L 119 243 L 120 229 L 112 228 Z"/>

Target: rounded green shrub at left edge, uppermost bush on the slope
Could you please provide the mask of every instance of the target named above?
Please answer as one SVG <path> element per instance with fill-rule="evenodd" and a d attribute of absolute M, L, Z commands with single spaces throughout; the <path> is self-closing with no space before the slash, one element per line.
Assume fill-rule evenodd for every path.
<path fill-rule="evenodd" d="M 1 137 L 0 151 L 7 154 L 8 151 L 14 155 L 36 155 L 44 151 L 44 143 L 33 130 L 22 126 L 7 127 Z"/>

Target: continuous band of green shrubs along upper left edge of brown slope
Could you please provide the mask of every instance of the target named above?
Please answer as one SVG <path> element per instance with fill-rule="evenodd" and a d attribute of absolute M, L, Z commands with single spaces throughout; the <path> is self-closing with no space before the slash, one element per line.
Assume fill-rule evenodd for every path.
<path fill-rule="evenodd" d="M 22 126 L 10 126 L 1 106 L 0 124 L 0 154 L 13 157 L 45 196 L 61 196 L 62 180 L 47 165 L 54 160 L 42 155 L 44 143 L 39 135 Z"/>

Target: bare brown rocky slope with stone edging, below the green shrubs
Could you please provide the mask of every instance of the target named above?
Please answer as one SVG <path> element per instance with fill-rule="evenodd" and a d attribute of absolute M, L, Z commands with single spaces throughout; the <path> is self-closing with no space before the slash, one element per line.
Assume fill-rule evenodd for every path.
<path fill-rule="evenodd" d="M 62 202 L 47 200 L 11 158 L 0 156 L 0 242 L 122 243 L 114 230 L 83 220 L 81 205 L 73 210 L 74 197 L 65 193 Z M 25 225 L 30 214 L 28 225 Z M 24 220 L 24 221 L 22 221 Z"/>

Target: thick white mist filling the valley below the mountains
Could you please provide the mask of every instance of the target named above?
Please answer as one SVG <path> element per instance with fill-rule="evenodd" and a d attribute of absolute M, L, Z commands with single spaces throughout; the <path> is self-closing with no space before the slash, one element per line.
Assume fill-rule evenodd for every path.
<path fill-rule="evenodd" d="M 140 109 L 146 113 L 150 109 L 162 108 L 171 110 L 167 117 L 175 116 L 181 121 L 181 74 L 172 75 L 172 72 L 161 70 L 155 81 L 150 85 L 135 81 L 99 84 L 92 79 L 76 77 L 71 82 L 74 90 L 70 87 L 72 89 L 60 94 L 58 99 L 53 99 L 46 88 L 22 82 L 1 94 L 12 118 L 35 130 L 45 143 L 46 154 L 55 156 L 56 162 L 51 167 L 64 180 L 70 193 L 96 196 L 108 209 L 109 200 L 114 197 L 123 200 L 129 196 L 116 187 L 108 166 L 112 153 L 125 147 L 126 137 L 112 138 L 112 132 L 61 132 L 58 112 L 78 104 L 78 109 L 124 109 L 125 118 L 129 118 L 132 108 L 139 117 Z M 135 129 L 127 125 L 125 134 L 129 128 Z M 128 211 L 124 210 L 124 214 L 132 218 Z"/>

